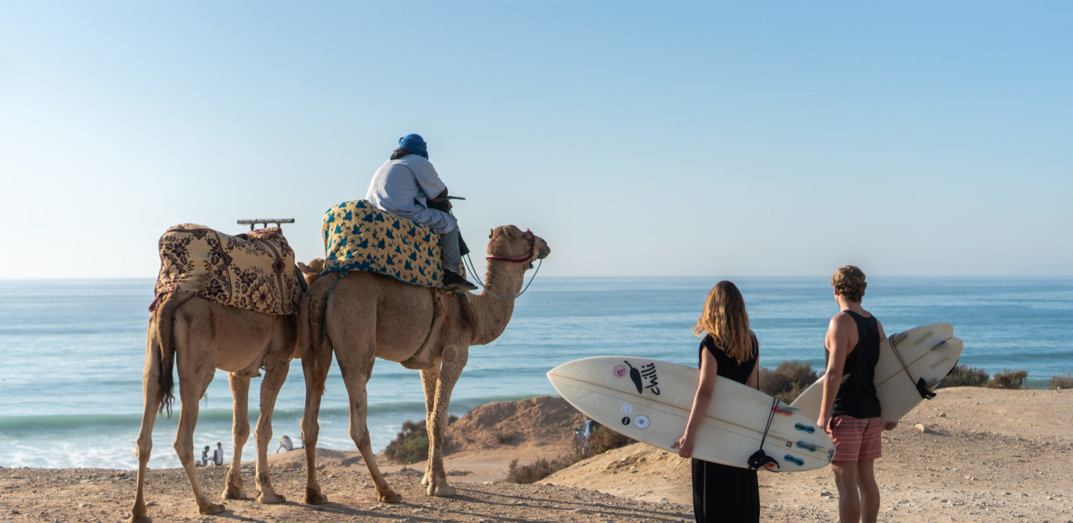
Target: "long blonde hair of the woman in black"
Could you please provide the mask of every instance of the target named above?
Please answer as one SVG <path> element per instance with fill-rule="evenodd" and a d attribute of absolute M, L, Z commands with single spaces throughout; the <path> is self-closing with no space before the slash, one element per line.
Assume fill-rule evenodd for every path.
<path fill-rule="evenodd" d="M 710 334 L 726 355 L 743 363 L 752 355 L 749 314 L 737 287 L 727 280 L 716 284 L 704 302 L 704 310 L 693 325 L 693 334 Z"/>

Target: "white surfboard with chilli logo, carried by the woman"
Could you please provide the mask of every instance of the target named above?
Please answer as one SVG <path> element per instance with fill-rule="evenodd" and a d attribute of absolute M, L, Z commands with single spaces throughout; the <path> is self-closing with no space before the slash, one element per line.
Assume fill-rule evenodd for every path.
<path fill-rule="evenodd" d="M 602 355 L 563 363 L 547 373 L 562 397 L 589 418 L 638 441 L 672 449 L 686 430 L 697 368 L 629 355 Z M 773 405 L 778 408 L 773 413 Z M 764 437 L 764 428 L 767 436 Z M 718 378 L 711 404 L 696 433 L 697 459 L 747 468 L 760 450 L 777 466 L 809 470 L 831 463 L 835 446 L 813 420 L 751 387 Z"/>

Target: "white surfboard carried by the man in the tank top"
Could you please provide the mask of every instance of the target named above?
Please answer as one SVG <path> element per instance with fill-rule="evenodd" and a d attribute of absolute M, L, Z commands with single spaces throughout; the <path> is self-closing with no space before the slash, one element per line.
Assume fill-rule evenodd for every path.
<path fill-rule="evenodd" d="M 935 391 L 942 378 L 954 368 L 962 348 L 964 344 L 954 337 L 954 326 L 950 323 L 917 326 L 880 342 L 873 382 L 883 408 L 883 422 L 898 421 L 921 403 L 923 396 L 917 391 L 917 382 L 928 392 Z M 799 408 L 802 413 L 815 421 L 820 417 L 823 383 L 821 376 L 791 406 Z"/>

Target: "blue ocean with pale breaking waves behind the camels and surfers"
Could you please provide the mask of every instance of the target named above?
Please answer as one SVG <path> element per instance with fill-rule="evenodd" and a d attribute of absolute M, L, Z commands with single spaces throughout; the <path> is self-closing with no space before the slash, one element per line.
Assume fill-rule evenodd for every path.
<path fill-rule="evenodd" d="M 822 372 L 823 337 L 837 313 L 827 278 L 732 278 L 745 296 L 764 366 L 784 360 Z M 690 328 L 718 278 L 538 276 L 506 331 L 470 348 L 451 412 L 502 399 L 554 395 L 544 373 L 599 354 L 633 354 L 695 365 Z M 0 466 L 137 466 L 145 329 L 152 279 L 0 280 Z M 1031 387 L 1073 371 L 1073 278 L 870 278 L 865 308 L 888 334 L 945 321 L 965 342 L 961 363 L 988 373 L 1025 369 Z M 250 390 L 256 420 L 260 379 Z M 369 381 L 369 431 L 382 450 L 406 420 L 424 419 L 416 371 L 378 360 Z M 274 441 L 298 445 L 305 387 L 299 360 L 279 395 Z M 347 392 L 333 365 L 320 413 L 320 446 L 350 450 Z M 178 410 L 159 416 L 153 468 L 179 466 L 172 449 Z M 231 456 L 231 397 L 220 371 L 201 403 L 194 447 L 223 442 Z M 244 460 L 253 460 L 251 434 Z"/>

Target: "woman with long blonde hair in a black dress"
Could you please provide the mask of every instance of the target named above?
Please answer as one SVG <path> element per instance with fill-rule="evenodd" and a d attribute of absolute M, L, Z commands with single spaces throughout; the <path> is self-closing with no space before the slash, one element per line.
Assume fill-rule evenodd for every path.
<path fill-rule="evenodd" d="M 693 407 L 689 411 L 686 433 L 671 448 L 678 455 L 691 457 L 696 428 L 708 410 L 712 398 L 716 376 L 733 379 L 756 388 L 760 344 L 749 329 L 749 315 L 738 288 L 730 281 L 720 281 L 708 292 L 701 318 L 693 325 L 693 333 L 704 335 L 701 340 L 701 382 L 696 386 Z M 756 471 L 732 467 L 697 459 L 692 461 L 693 513 L 697 523 L 712 521 L 759 522 L 760 488 Z"/>

